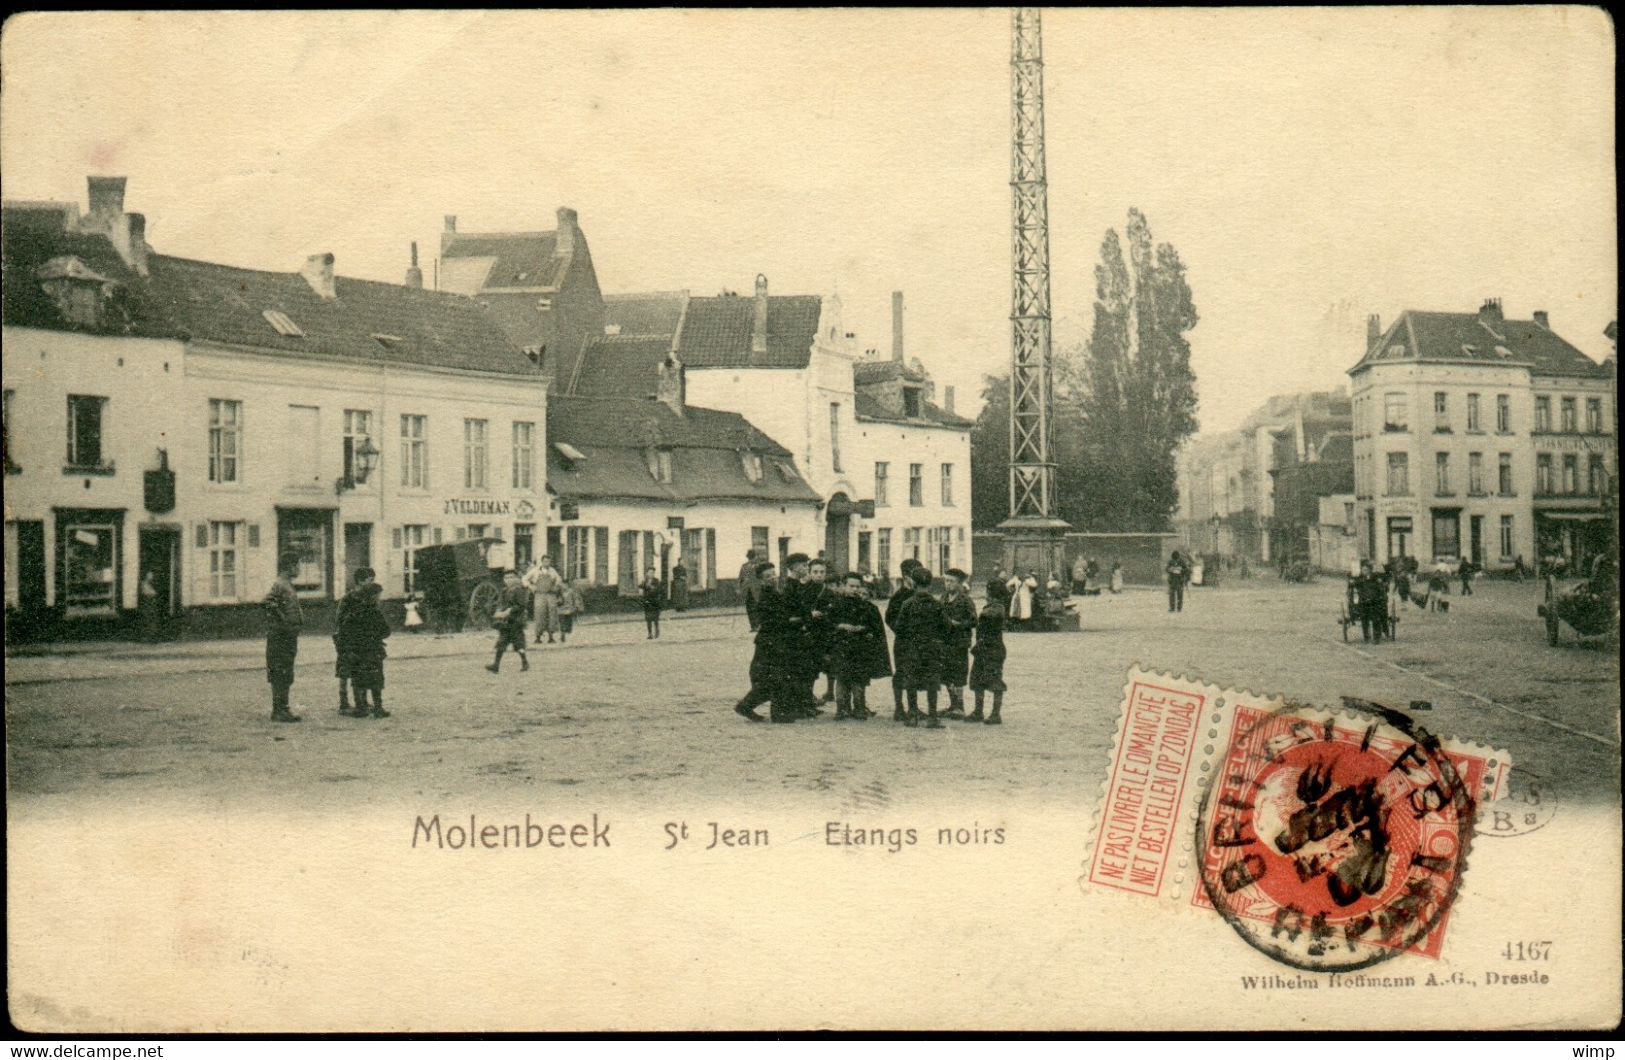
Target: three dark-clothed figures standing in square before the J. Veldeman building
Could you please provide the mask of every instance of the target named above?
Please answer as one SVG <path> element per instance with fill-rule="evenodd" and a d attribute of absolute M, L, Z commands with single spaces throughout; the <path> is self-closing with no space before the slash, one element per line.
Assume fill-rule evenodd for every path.
<path fill-rule="evenodd" d="M 299 657 L 299 629 L 304 613 L 292 579 L 299 572 L 297 553 L 284 553 L 276 563 L 276 582 L 265 593 L 265 676 L 271 684 L 271 720 L 301 722 L 288 706 L 294 683 L 294 662 Z M 359 567 L 354 587 L 338 602 L 333 626 L 335 662 L 338 678 L 338 712 L 344 717 L 388 717 L 384 709 L 384 641 L 390 636 L 388 619 L 379 606 L 384 587 L 377 584 L 372 567 Z M 354 694 L 354 702 L 351 702 Z M 370 702 L 369 702 L 370 701 Z"/>

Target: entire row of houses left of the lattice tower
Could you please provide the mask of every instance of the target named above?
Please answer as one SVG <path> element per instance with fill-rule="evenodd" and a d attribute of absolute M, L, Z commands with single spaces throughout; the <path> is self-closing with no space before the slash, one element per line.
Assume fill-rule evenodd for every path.
<path fill-rule="evenodd" d="M 169 257 L 93 177 L 89 208 L 3 208 L 8 631 L 252 628 L 280 553 L 322 613 L 426 545 L 543 551 L 590 606 L 681 564 L 731 598 L 746 550 L 835 566 L 968 561 L 970 423 L 821 296 L 603 294 L 570 210 L 458 232 L 437 286 Z M 146 589 L 143 590 L 143 582 Z"/>

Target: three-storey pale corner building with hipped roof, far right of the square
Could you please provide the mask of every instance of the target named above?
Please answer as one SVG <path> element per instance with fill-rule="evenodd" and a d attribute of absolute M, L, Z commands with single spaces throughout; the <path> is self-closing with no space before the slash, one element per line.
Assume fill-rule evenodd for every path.
<path fill-rule="evenodd" d="M 1485 569 L 1610 548 L 1610 372 L 1547 314 L 1373 319 L 1354 380 L 1355 502 L 1363 554 Z"/>

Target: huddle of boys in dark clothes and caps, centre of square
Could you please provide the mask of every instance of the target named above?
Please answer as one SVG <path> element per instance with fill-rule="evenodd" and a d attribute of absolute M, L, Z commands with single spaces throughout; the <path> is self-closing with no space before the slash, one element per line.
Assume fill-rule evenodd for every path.
<path fill-rule="evenodd" d="M 734 712 L 751 722 L 790 723 L 814 719 L 821 702 L 835 704 L 835 720 L 863 722 L 876 715 L 868 706 L 869 681 L 890 676 L 892 720 L 910 727 L 941 728 L 938 691 L 947 686 L 947 717 L 998 723 L 994 715 L 964 712 L 970 645 L 977 608 L 965 590 L 968 576 L 944 572 L 941 597 L 931 593 L 931 572 L 915 559 L 902 564 L 902 584 L 882 618 L 869 600 L 863 574 L 830 577 L 829 564 L 795 553 L 785 559 L 780 587 L 769 561 L 754 566 L 756 650 L 751 657 L 751 689 Z M 895 637 L 887 650 L 886 628 Z M 894 667 L 895 658 L 895 667 Z M 819 675 L 829 678 L 817 696 Z M 918 696 L 926 694 L 921 714 Z M 767 704 L 769 717 L 757 714 Z"/>

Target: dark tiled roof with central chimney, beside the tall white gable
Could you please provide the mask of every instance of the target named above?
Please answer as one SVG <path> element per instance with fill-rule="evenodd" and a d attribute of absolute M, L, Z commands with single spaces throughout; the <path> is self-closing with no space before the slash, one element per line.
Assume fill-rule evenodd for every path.
<path fill-rule="evenodd" d="M 752 353 L 754 298 L 691 298 L 678 356 L 689 367 L 806 367 L 821 312 L 816 294 L 769 296 L 767 350 Z"/>

